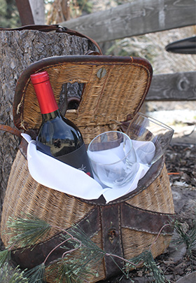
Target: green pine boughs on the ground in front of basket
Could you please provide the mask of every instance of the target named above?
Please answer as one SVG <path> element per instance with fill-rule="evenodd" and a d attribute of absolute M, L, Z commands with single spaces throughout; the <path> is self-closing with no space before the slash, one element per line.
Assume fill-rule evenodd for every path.
<path fill-rule="evenodd" d="M 183 227 L 178 221 L 172 221 L 170 224 L 167 225 L 172 225 L 174 227 L 174 230 L 176 230 L 176 232 L 178 233 L 179 238 L 177 244 L 181 244 L 182 241 L 185 242 L 188 251 L 188 256 L 195 256 L 193 250 L 195 250 L 196 248 L 196 223 L 194 223 L 192 230 L 190 230 L 190 233 L 183 231 Z M 92 266 L 96 266 L 97 263 L 101 261 L 102 258 L 104 258 L 104 256 L 110 256 L 115 263 L 116 258 L 120 258 L 115 254 L 109 254 L 100 249 L 97 244 L 94 244 L 94 242 L 92 242 L 90 238 L 87 237 L 83 230 L 81 230 L 78 226 L 73 226 L 73 228 L 71 228 L 71 230 L 69 230 L 68 232 L 66 230 L 63 230 L 62 228 L 51 226 L 47 222 L 29 214 L 23 214 L 18 219 L 10 218 L 8 221 L 8 228 L 10 228 L 11 240 L 8 248 L 0 252 L 0 283 L 46 282 L 45 262 L 47 261 L 50 254 L 55 251 L 57 247 L 59 247 L 59 245 L 52 249 L 52 251 L 50 251 L 48 256 L 45 257 L 45 261 L 40 265 L 37 265 L 31 270 L 20 270 L 20 268 L 17 267 L 15 268 L 15 270 L 12 270 L 13 275 L 9 279 L 9 281 L 5 281 L 5 278 L 8 274 L 8 271 L 10 271 L 8 270 L 8 261 L 10 261 L 10 251 L 13 249 L 13 247 L 14 249 L 17 247 L 32 247 L 33 249 L 33 246 L 37 243 L 37 241 L 41 239 L 44 240 L 44 238 L 48 235 L 48 233 L 50 233 L 50 230 L 52 228 L 56 228 L 62 232 L 65 232 L 64 234 L 62 234 L 62 242 L 60 243 L 60 247 L 64 249 L 64 254 L 61 258 L 58 258 L 57 260 L 51 262 L 50 265 L 47 265 L 47 274 L 48 270 L 50 270 L 51 275 L 53 272 L 55 272 L 55 282 L 88 282 L 87 277 L 90 273 L 92 273 Z M 71 244 L 70 249 L 65 246 L 65 244 L 68 242 Z M 153 244 L 151 244 L 151 247 Z M 126 279 L 130 279 L 130 282 L 133 281 L 129 277 L 129 270 L 132 268 L 137 268 L 141 264 L 144 265 L 146 272 L 150 273 L 153 276 L 155 283 L 169 282 L 165 278 L 165 275 L 163 274 L 162 270 L 158 268 L 158 265 L 155 262 L 155 259 L 153 258 L 153 255 L 151 253 L 151 247 L 149 247 L 148 250 L 139 254 L 139 256 L 131 258 L 130 260 L 121 258 L 122 261 L 124 261 L 125 263 L 125 268 L 119 268 L 123 273 L 123 276 L 125 276 Z M 74 251 L 77 251 L 75 256 L 70 256 Z M 98 276 L 98 274 L 94 275 Z"/>

